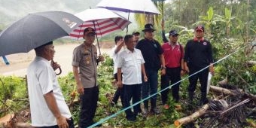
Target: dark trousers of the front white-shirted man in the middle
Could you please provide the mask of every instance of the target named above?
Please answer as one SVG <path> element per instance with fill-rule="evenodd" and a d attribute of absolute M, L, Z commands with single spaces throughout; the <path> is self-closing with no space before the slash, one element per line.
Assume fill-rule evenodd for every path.
<path fill-rule="evenodd" d="M 126 85 L 123 84 L 123 104 L 124 108 L 130 106 L 130 100 L 133 98 L 133 104 L 140 101 L 141 97 L 141 84 L 133 84 L 133 85 Z M 141 112 L 140 104 L 133 106 L 133 111 L 131 109 L 127 109 L 126 111 L 126 118 L 133 118 Z"/>

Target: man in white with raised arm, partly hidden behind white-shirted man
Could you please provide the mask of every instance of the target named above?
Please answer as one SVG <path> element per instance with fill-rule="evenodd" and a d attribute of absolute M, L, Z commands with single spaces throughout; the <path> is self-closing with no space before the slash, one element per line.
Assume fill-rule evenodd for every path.
<path fill-rule="evenodd" d="M 123 42 L 123 36 L 117 35 L 114 37 L 114 43 L 115 46 L 111 49 L 111 58 L 113 59 L 114 62 L 114 83 L 117 82 L 117 57 L 118 54 L 124 50 L 124 42 Z M 117 87 L 117 90 L 114 93 L 114 97 L 111 100 L 111 105 L 116 105 L 117 101 L 121 99 L 122 105 L 123 105 L 123 88 Z"/>

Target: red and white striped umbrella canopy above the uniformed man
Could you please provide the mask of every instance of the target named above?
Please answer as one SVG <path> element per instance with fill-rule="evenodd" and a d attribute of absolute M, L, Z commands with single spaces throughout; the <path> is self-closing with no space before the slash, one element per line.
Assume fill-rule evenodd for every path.
<path fill-rule="evenodd" d="M 70 38 L 76 40 L 83 39 L 84 29 L 87 27 L 96 29 L 97 37 L 103 37 L 111 32 L 123 30 L 131 23 L 126 18 L 105 8 L 87 9 L 75 16 L 84 21 L 69 35 Z"/>

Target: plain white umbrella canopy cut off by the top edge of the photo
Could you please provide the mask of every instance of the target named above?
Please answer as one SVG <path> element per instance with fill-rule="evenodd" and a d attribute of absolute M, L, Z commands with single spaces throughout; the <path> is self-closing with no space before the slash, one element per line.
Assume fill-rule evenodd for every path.
<path fill-rule="evenodd" d="M 102 0 L 96 7 L 128 13 L 160 14 L 151 0 Z"/>

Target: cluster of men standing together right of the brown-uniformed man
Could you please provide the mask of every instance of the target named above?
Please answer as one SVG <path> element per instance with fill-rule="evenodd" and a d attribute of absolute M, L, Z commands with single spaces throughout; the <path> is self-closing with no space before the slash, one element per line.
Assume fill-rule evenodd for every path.
<path fill-rule="evenodd" d="M 119 40 L 115 40 L 116 46 L 112 49 L 112 58 L 114 60 L 114 71 L 116 71 L 114 72 L 114 78 L 117 81 L 118 88 L 111 103 L 116 104 L 118 96 L 120 96 L 123 108 L 127 108 L 130 106 L 131 99 L 133 99 L 133 104 L 139 102 L 140 99 L 144 99 L 143 111 L 139 104 L 133 106 L 133 111 L 131 109 L 126 110 L 127 120 L 136 120 L 136 116 L 140 112 L 145 116 L 149 112 L 153 114 L 160 113 L 157 109 L 156 95 L 159 71 L 161 75 L 160 87 L 163 90 L 161 92 L 163 108 L 169 108 L 167 104 L 169 90 L 166 90 L 166 88 L 170 85 L 172 85 L 172 98 L 175 102 L 179 101 L 179 85 L 181 76 L 185 73 L 191 75 L 188 86 L 190 103 L 194 99 L 198 79 L 201 84 L 200 104 L 203 105 L 208 101 L 206 98 L 207 77 L 209 72 L 214 73 L 212 45 L 203 38 L 205 31 L 203 26 L 197 26 L 194 30 L 195 37 L 193 40 L 187 41 L 185 48 L 178 43 L 179 34 L 174 29 L 169 32 L 169 41 L 164 40 L 161 46 L 158 41 L 154 40 L 155 29 L 152 24 L 145 25 L 145 29 L 142 30 L 145 38 L 140 41 L 139 32 L 126 35 L 124 41 L 122 36 L 116 37 Z M 130 40 L 127 40 L 127 38 Z M 132 44 L 127 45 L 129 42 Z M 124 48 L 125 44 L 126 48 Z M 199 72 L 207 66 L 209 68 Z M 117 93 L 119 95 L 116 95 Z M 151 97 L 150 107 L 149 96 Z"/>

